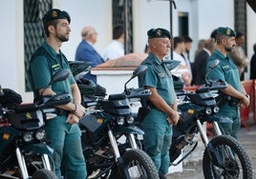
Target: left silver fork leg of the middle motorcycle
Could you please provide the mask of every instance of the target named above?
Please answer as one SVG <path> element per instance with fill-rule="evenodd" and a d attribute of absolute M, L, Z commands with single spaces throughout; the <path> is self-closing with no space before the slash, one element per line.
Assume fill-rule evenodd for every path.
<path fill-rule="evenodd" d="M 116 162 L 117 162 L 117 169 L 119 170 L 120 174 L 122 176 L 124 176 L 124 178 L 130 178 L 128 168 L 124 164 L 123 159 L 120 157 L 120 152 L 117 147 L 117 140 L 116 140 L 111 129 L 108 130 L 108 135 L 109 135 L 111 146 L 112 146 L 114 154 L 115 154 L 115 158 L 116 158 Z"/>

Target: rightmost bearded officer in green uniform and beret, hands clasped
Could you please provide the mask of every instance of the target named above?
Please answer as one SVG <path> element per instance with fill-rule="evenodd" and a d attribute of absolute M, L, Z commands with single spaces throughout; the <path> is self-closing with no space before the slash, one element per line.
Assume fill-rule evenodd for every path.
<path fill-rule="evenodd" d="M 229 58 L 227 52 L 233 50 L 236 45 L 235 41 L 236 31 L 227 27 L 220 27 L 216 32 L 217 46 L 211 56 L 207 60 L 207 67 L 213 60 L 219 59 L 220 64 L 217 68 L 210 70 L 207 68 L 207 79 L 223 80 L 227 83 L 227 87 L 221 91 L 224 95 L 232 96 L 232 100 L 225 100 L 221 107 L 219 114 L 227 116 L 233 120 L 233 124 L 222 124 L 220 126 L 224 129 L 226 134 L 237 138 L 237 131 L 241 126 L 239 107 L 245 108 L 249 105 L 249 97 L 245 94 L 244 86 L 240 82 L 239 71 L 233 60 Z M 238 99 L 239 103 L 233 102 Z"/>

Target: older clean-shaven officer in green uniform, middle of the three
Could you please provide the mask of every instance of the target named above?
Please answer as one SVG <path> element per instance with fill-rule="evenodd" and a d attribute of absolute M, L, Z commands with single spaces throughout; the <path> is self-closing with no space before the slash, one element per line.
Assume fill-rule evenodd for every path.
<path fill-rule="evenodd" d="M 142 62 L 148 69 L 139 76 L 139 87 L 150 89 L 150 111 L 143 119 L 143 145 L 147 154 L 159 169 L 160 178 L 166 178 L 169 168 L 169 148 L 172 125 L 179 120 L 173 79 L 162 58 L 170 52 L 170 32 L 164 29 L 147 31 L 150 52 Z"/>

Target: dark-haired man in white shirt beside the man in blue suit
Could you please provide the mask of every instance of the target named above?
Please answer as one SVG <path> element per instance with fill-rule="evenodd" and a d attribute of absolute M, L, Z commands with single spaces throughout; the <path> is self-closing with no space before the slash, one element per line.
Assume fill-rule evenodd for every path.
<path fill-rule="evenodd" d="M 113 29 L 113 40 L 102 53 L 105 61 L 113 60 L 124 55 L 124 29 L 122 25 L 117 25 Z"/>

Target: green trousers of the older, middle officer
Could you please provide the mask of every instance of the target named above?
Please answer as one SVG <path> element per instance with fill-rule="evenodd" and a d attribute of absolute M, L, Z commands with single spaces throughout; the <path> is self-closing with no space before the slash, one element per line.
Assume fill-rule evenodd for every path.
<path fill-rule="evenodd" d="M 167 115 L 158 109 L 151 109 L 141 123 L 144 130 L 143 145 L 162 174 L 168 173 L 169 149 L 172 142 L 172 126 L 166 121 Z"/>

